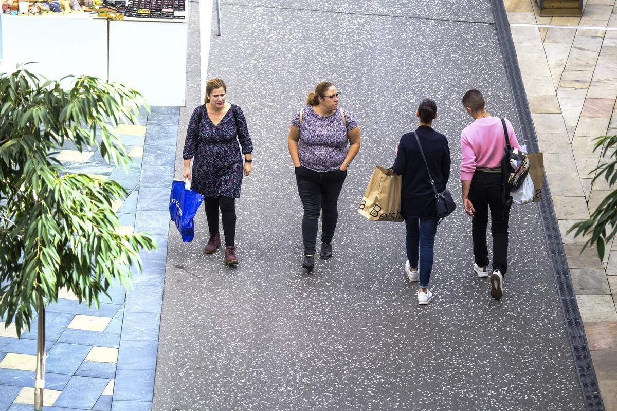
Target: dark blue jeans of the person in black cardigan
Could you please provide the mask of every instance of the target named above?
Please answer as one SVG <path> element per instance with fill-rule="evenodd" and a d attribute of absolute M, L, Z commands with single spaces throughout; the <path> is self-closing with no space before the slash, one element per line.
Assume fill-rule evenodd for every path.
<path fill-rule="evenodd" d="M 427 288 L 431 278 L 437 222 L 439 222 L 438 218 L 405 217 L 407 259 L 412 267 L 418 267 L 418 259 L 420 259 L 420 288 Z"/>

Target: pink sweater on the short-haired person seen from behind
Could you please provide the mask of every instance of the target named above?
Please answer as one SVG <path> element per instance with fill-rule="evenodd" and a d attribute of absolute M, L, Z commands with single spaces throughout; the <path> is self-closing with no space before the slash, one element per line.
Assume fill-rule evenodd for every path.
<path fill-rule="evenodd" d="M 512 124 L 505 119 L 510 145 L 516 149 L 521 146 L 516 140 Z M 499 117 L 478 118 L 461 133 L 461 179 L 471 181 L 478 167 L 499 167 L 505 152 L 503 126 Z"/>

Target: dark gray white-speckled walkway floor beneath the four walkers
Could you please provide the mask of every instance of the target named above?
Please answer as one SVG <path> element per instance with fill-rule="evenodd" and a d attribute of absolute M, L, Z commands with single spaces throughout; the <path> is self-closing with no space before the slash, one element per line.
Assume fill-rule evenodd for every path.
<path fill-rule="evenodd" d="M 457 7 L 466 4 L 476 2 Z M 481 89 L 489 112 L 516 123 L 496 36 L 486 23 L 225 6 L 209 77 L 225 78 L 255 146 L 238 201 L 241 264 L 202 253 L 203 213 L 193 243 L 170 230 L 155 411 L 584 409 L 536 206 L 512 213 L 500 301 L 471 270 L 462 208 L 441 224 L 428 306 L 403 271 L 404 225 L 356 211 L 373 167 L 391 165 L 400 135 L 415 128 L 423 97 L 436 100 L 434 126 L 450 139 L 460 203 L 458 136 L 471 121 L 462 94 Z M 194 38 L 189 49 L 199 49 Z M 306 275 L 286 138 L 322 79 L 344 93 L 362 149 L 339 200 L 334 257 Z"/>

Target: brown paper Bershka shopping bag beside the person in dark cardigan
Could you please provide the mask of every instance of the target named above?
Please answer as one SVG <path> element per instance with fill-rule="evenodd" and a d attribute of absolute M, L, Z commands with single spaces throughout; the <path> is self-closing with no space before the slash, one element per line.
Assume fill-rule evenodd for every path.
<path fill-rule="evenodd" d="M 400 210 L 402 181 L 403 176 L 397 176 L 394 170 L 375 166 L 358 213 L 373 221 L 403 221 Z"/>

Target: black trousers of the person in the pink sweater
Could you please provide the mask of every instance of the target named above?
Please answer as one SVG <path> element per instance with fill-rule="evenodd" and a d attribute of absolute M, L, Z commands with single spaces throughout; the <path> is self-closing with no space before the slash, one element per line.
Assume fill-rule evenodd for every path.
<path fill-rule="evenodd" d="M 489 251 L 486 246 L 486 226 L 491 208 L 491 234 L 493 236 L 493 270 L 505 275 L 508 268 L 508 219 L 510 205 L 503 204 L 503 181 L 501 174 L 473 173 L 469 199 L 476 209 L 471 220 L 473 256 L 478 266 L 489 265 Z"/>

